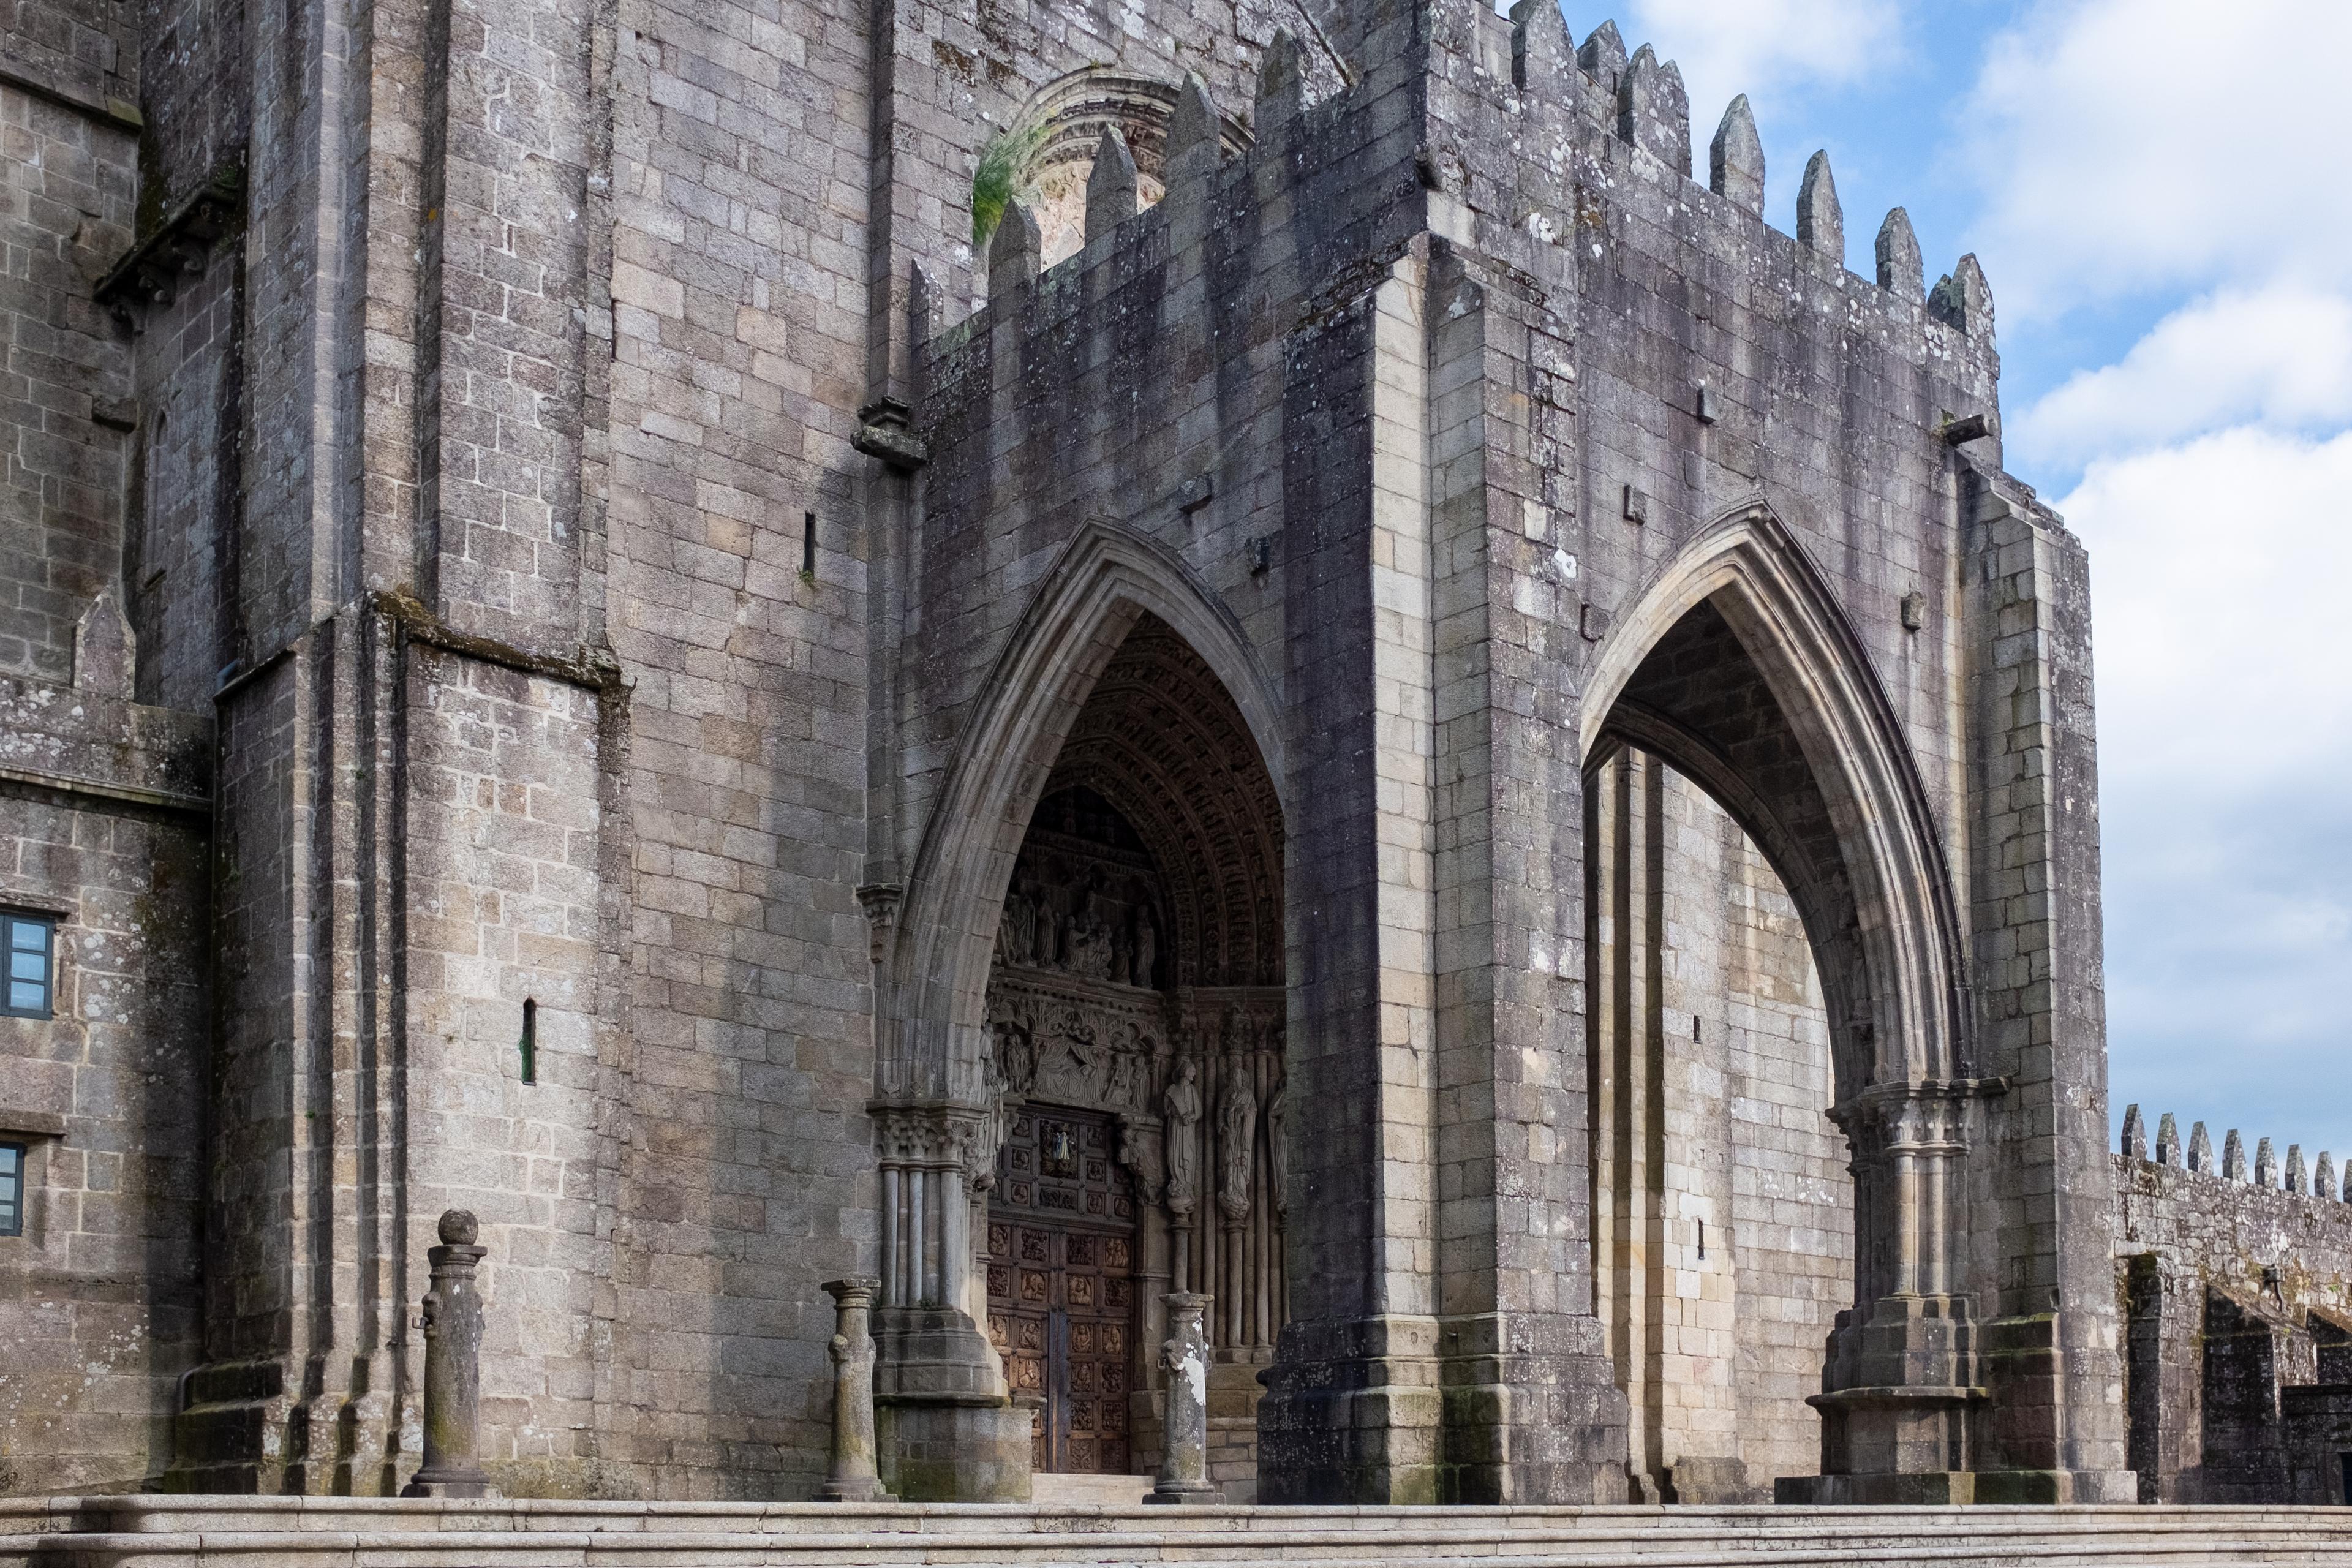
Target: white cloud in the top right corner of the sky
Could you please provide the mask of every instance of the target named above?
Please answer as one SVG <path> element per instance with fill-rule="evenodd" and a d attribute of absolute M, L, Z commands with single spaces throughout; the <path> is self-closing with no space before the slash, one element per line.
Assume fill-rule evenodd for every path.
<path fill-rule="evenodd" d="M 2343 277 L 2347 56 L 2343 0 L 2072 0 L 1997 35 L 1957 125 L 2004 313 Z"/>

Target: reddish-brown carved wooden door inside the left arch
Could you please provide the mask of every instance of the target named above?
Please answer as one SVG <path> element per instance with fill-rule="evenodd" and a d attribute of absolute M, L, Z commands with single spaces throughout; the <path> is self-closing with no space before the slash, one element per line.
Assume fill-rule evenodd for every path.
<path fill-rule="evenodd" d="M 1037 1396 L 1030 1467 L 1127 1474 L 1136 1199 L 1110 1117 L 1025 1107 L 988 1206 L 988 1338 Z"/>

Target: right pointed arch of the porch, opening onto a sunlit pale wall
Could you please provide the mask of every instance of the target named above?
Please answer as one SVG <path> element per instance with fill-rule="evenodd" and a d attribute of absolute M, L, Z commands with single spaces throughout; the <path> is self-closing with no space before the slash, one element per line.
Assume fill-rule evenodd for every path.
<path fill-rule="evenodd" d="M 1644 592 L 1583 741 L 1595 1305 L 1637 1488 L 1969 1469 L 1955 889 L 1896 710 L 1766 508 Z"/>

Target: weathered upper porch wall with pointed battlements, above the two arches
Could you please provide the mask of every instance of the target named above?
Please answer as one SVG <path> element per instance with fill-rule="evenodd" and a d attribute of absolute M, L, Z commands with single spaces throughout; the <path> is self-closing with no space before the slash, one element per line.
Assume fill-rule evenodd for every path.
<path fill-rule="evenodd" d="M 1169 153 L 1160 205 L 1089 223 L 1058 266 L 1040 270 L 1018 216 L 1000 230 L 993 299 L 931 336 L 917 414 L 922 635 L 969 654 L 924 663 L 946 679 L 934 741 L 1002 649 L 1021 609 L 1009 590 L 1087 517 L 1160 531 L 1214 583 L 1242 581 L 1254 541 L 1279 574 L 1275 475 L 1303 433 L 1284 428 L 1277 388 L 1425 233 L 1508 299 L 1494 374 L 1531 440 L 1508 480 L 1522 494 L 1489 498 L 1489 522 L 1534 550 L 1548 618 L 1604 632 L 1693 529 L 1762 498 L 1851 585 L 1936 778 L 1966 701 L 1959 557 L 1983 487 L 1962 470 L 1999 468 L 1999 355 L 1973 259 L 1929 292 L 1898 209 L 1877 280 L 1846 270 L 1825 158 L 1804 179 L 1802 233 L 1776 230 L 1745 101 L 1710 181 L 1693 179 L 1679 73 L 1646 47 L 1628 56 L 1611 24 L 1576 45 L 1550 5 L 1519 21 L 1439 7 L 1435 28 L 1425 75 L 1371 71 L 1312 103 L 1287 38 L 1247 110 L 1195 82 L 1202 122 L 1247 120 L 1254 146 L 1218 158 L 1197 132 Z M 1952 421 L 1983 435 L 1955 442 Z M 981 534 L 1009 576 L 971 576 Z M 1907 597 L 1919 625 L 1898 614 Z M 1583 663 L 1573 642 L 1555 651 Z M 927 762 L 946 766 L 941 750 Z"/>

